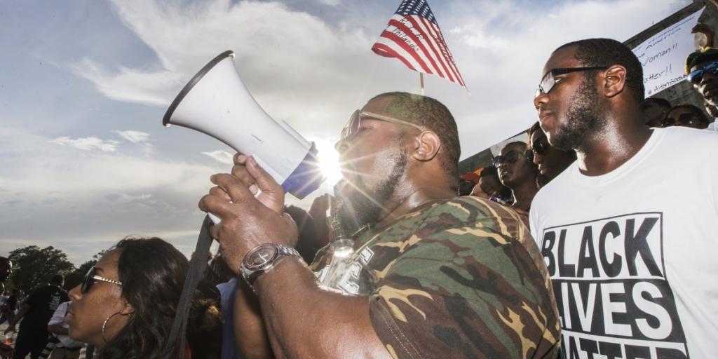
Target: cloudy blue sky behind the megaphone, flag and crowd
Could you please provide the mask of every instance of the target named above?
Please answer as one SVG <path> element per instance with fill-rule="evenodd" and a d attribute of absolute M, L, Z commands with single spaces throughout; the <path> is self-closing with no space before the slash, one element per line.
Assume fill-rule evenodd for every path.
<path fill-rule="evenodd" d="M 130 234 L 190 254 L 197 202 L 231 151 L 162 126 L 182 86 L 234 50 L 265 111 L 334 162 L 356 108 L 419 93 L 417 73 L 370 50 L 400 2 L 0 0 L 0 255 L 52 245 L 81 264 Z M 623 41 L 690 3 L 429 0 L 471 95 L 432 75 L 426 95 L 454 113 L 468 157 L 536 121 L 533 90 L 556 47 Z"/>

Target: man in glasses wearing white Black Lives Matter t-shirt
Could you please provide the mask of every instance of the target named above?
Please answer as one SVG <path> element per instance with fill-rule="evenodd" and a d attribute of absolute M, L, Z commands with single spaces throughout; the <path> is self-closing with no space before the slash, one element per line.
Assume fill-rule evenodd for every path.
<path fill-rule="evenodd" d="M 718 135 L 645 127 L 643 71 L 620 42 L 559 47 L 544 74 L 541 129 L 578 154 L 531 206 L 565 357 L 714 358 Z"/>

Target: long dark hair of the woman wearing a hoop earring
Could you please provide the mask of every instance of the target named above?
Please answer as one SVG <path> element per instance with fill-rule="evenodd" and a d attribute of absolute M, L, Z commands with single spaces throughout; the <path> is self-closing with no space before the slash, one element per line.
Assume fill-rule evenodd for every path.
<path fill-rule="evenodd" d="M 113 249 L 121 251 L 118 279 L 122 282 L 122 297 L 134 313 L 98 358 L 161 358 L 190 262 L 177 248 L 157 237 L 125 238 Z"/>

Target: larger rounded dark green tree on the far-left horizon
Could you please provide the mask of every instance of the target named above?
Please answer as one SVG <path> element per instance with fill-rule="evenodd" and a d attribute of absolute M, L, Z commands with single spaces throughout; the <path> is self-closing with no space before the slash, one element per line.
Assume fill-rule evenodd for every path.
<path fill-rule="evenodd" d="M 25 293 L 49 282 L 55 274 L 67 274 L 75 269 L 75 265 L 67 261 L 67 254 L 52 246 L 17 248 L 7 258 L 12 261 L 12 283 Z"/>

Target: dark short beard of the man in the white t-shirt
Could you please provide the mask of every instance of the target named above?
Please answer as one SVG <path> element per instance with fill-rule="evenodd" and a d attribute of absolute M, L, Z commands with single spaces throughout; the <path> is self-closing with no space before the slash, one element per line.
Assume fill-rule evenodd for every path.
<path fill-rule="evenodd" d="M 586 73 L 577 93 L 570 100 L 567 113 L 569 122 L 557 129 L 551 139 L 551 146 L 561 151 L 578 149 L 588 136 L 603 129 L 606 123 L 603 112 L 599 106 L 596 78 Z"/>

